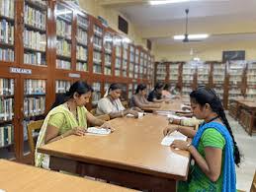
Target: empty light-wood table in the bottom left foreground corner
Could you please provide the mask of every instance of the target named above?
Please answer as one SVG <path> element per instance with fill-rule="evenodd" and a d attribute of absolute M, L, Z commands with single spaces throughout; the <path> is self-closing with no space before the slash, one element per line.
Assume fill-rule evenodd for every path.
<path fill-rule="evenodd" d="M 6 192 L 133 191 L 8 160 L 0 160 L 0 189 Z"/>

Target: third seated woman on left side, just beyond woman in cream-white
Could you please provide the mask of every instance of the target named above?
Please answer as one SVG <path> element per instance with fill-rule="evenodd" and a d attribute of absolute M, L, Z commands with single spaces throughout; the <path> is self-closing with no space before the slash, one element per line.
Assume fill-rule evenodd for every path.
<path fill-rule="evenodd" d="M 159 103 L 149 102 L 146 98 L 146 85 L 139 84 L 136 88 L 135 95 L 131 96 L 129 105 L 130 107 L 137 106 L 144 110 L 146 108 L 159 108 Z"/>

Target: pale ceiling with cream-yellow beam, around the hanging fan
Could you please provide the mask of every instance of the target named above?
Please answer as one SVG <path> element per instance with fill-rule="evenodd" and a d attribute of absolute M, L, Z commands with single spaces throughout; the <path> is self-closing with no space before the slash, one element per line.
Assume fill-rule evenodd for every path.
<path fill-rule="evenodd" d="M 188 32 L 209 33 L 208 42 L 256 39 L 256 0 L 194 0 L 157 6 L 147 0 L 99 2 L 119 10 L 143 38 L 157 44 L 178 43 L 172 36 L 185 33 L 185 9 L 190 10 Z"/>

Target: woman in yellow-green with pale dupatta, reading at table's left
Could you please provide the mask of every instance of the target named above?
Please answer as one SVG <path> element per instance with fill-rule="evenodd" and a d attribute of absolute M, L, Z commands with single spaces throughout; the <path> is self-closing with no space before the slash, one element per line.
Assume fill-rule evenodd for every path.
<path fill-rule="evenodd" d="M 94 117 L 85 104 L 89 102 L 93 89 L 85 82 L 77 81 L 71 85 L 65 96 L 58 96 L 53 108 L 46 115 L 36 147 L 36 166 L 48 168 L 49 157 L 37 152 L 45 144 L 60 140 L 69 135 L 83 136 L 87 121 L 92 125 L 111 128 L 109 123 Z M 54 107 L 55 106 L 55 107 Z"/>

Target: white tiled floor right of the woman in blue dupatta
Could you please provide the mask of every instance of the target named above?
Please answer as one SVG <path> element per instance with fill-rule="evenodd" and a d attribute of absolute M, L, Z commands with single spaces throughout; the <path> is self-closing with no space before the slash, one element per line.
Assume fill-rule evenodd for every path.
<path fill-rule="evenodd" d="M 228 114 L 228 112 L 226 112 Z M 227 115 L 235 140 L 242 154 L 240 167 L 236 168 L 236 188 L 250 191 L 254 172 L 256 170 L 256 135 L 250 137 L 243 127 L 232 117 Z"/>

